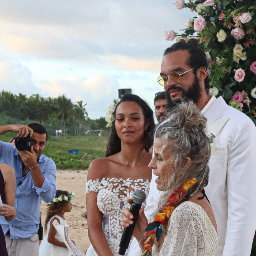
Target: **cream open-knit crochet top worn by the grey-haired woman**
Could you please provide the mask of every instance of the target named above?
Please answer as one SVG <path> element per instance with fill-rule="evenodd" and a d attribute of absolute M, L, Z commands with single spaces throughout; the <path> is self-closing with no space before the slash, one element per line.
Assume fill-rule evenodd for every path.
<path fill-rule="evenodd" d="M 159 256 L 214 256 L 217 245 L 218 236 L 207 213 L 200 205 L 186 201 L 169 218 Z"/>

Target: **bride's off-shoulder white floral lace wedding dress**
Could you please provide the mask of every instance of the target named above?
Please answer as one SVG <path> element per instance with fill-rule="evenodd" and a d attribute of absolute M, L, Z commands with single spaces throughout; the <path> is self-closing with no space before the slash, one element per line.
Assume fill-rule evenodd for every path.
<path fill-rule="evenodd" d="M 131 180 L 130 178 L 126 180 L 122 178 L 102 178 L 101 181 L 99 179 L 89 180 L 86 183 L 86 193 L 98 192 L 97 205 L 103 214 L 102 232 L 114 256 L 119 256 L 119 243 L 123 233 L 123 228 L 120 226 L 121 215 L 125 207 L 130 208 L 127 199 L 132 198 L 133 192 L 137 189 L 143 190 L 147 196 L 149 184 L 148 180 Z M 142 207 L 145 207 L 145 202 Z M 89 254 L 91 249 L 88 249 L 88 256 L 97 256 L 96 252 Z M 126 250 L 125 255 L 127 253 L 128 250 Z"/>

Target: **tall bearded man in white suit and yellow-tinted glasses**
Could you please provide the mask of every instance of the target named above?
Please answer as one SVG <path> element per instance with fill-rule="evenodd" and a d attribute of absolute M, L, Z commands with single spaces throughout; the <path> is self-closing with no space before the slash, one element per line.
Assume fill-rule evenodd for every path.
<path fill-rule="evenodd" d="M 195 102 L 207 117 L 209 134 L 215 136 L 205 191 L 217 222 L 216 256 L 249 256 L 256 230 L 255 125 L 222 97 L 209 95 L 207 60 L 197 45 L 178 42 L 167 48 L 158 81 L 172 101 L 179 102 L 184 96 Z M 156 178 L 152 173 L 145 208 L 149 221 L 161 193 Z M 133 241 L 129 255 L 139 255 L 135 248 Z"/>

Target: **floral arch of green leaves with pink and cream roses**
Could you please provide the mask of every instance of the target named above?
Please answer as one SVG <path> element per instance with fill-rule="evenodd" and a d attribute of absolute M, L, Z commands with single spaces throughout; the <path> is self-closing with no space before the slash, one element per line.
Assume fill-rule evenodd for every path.
<path fill-rule="evenodd" d="M 181 35 L 175 35 L 199 39 L 207 52 L 210 85 L 216 96 L 237 108 L 230 99 L 237 92 L 246 95 L 239 110 L 256 124 L 256 1 L 214 0 L 206 6 L 204 2 L 186 1 L 184 8 L 191 8 L 196 15 L 186 22 Z"/>

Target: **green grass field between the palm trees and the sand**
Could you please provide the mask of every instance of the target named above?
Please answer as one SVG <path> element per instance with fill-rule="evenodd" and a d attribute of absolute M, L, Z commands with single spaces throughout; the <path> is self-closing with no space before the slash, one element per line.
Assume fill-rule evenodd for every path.
<path fill-rule="evenodd" d="M 13 133 L 0 136 L 2 141 L 8 142 Z M 44 154 L 52 158 L 57 169 L 88 169 L 90 162 L 105 156 L 108 137 L 61 137 L 48 138 Z M 79 154 L 69 154 L 68 150 L 78 150 Z M 85 159 L 82 157 L 87 154 Z"/>

